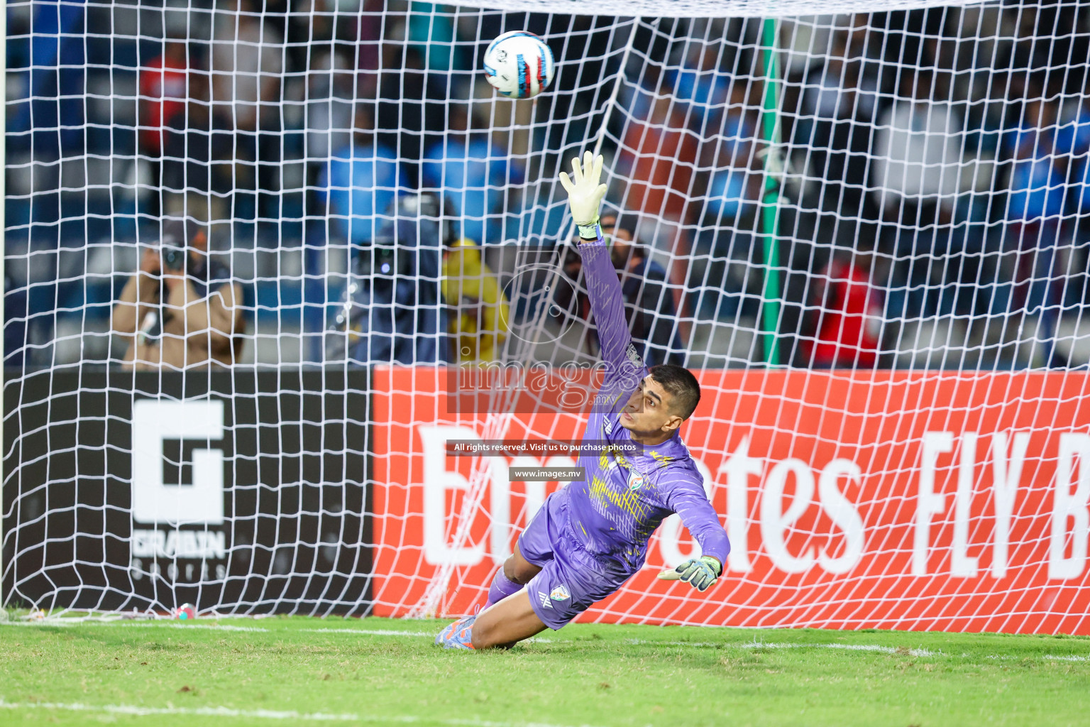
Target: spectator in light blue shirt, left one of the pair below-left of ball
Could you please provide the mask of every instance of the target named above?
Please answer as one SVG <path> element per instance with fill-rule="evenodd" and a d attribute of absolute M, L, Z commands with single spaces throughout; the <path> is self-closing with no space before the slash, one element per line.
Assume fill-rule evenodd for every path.
<path fill-rule="evenodd" d="M 318 174 L 318 203 L 329 203 L 334 231 L 353 245 L 367 244 L 384 220 L 405 177 L 397 153 L 375 138 L 375 111 L 358 104 L 352 141 L 330 154 Z"/>

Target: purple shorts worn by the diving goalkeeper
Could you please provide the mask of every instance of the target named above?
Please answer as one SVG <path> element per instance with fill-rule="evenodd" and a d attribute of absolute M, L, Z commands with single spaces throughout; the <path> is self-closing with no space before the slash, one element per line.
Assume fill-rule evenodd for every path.
<path fill-rule="evenodd" d="M 554 631 L 619 589 L 632 573 L 576 540 L 562 490 L 550 495 L 519 536 L 522 557 L 541 572 L 526 584 L 537 618 Z"/>

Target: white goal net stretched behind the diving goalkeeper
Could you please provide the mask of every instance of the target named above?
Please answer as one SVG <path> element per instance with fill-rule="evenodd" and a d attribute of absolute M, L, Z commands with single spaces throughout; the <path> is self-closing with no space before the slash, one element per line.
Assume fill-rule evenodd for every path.
<path fill-rule="evenodd" d="M 582 620 L 1090 633 L 1090 4 L 930 5 L 9 3 L 0 602 L 471 613 L 578 476 L 601 149 L 731 552 Z"/>

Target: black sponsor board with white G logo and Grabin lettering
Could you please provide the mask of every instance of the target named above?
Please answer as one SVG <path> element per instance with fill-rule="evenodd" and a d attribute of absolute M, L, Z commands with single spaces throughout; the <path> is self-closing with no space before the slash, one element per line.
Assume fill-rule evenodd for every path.
<path fill-rule="evenodd" d="M 9 605 L 370 609 L 365 369 L 4 380 Z"/>

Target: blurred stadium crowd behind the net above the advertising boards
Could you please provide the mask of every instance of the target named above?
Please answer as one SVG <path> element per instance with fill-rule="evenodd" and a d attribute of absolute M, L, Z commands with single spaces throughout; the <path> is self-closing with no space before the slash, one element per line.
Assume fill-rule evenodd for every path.
<path fill-rule="evenodd" d="M 562 233 L 552 177 L 602 123 L 611 84 L 595 80 L 614 77 L 630 27 L 400 0 L 64 3 L 51 20 L 31 8 L 8 10 L 9 365 L 63 359 L 50 342 L 74 326 L 73 355 L 121 359 L 110 312 L 137 259 L 134 245 L 130 259 L 113 243 L 158 239 L 160 218 L 182 216 L 207 225 L 228 266 L 217 269 L 243 283 L 252 361 L 262 319 L 313 334 L 298 358 L 326 360 L 329 311 L 353 300 L 392 312 L 356 316 L 358 330 L 388 340 L 339 355 L 499 356 L 507 329 L 533 311 L 501 290 L 501 243 Z M 774 204 L 782 363 L 919 365 L 898 355 L 906 326 L 944 318 L 994 355 L 943 365 L 1085 365 L 1054 343 L 1090 295 L 1081 10 L 784 21 L 774 87 L 758 20 L 641 24 L 604 149 L 614 179 L 629 180 L 610 189 L 610 230 L 649 361 L 714 349 L 693 344 L 702 330 L 760 329 Z M 497 101 L 477 71 L 487 41 L 511 27 L 565 34 L 533 119 Z M 44 53 L 84 71 L 50 76 Z M 762 108 L 773 93 L 770 145 Z M 434 239 L 416 239 L 420 226 L 390 231 L 390 210 L 409 197 L 407 214 L 441 210 Z M 397 282 L 361 298 L 343 274 L 361 258 L 380 269 L 389 240 L 412 251 L 411 271 L 389 253 L 398 271 L 435 290 Z M 564 299 L 568 316 L 585 315 L 582 300 Z M 429 319 L 413 312 L 421 305 L 446 312 Z M 457 342 L 395 344 L 422 320 L 424 334 Z M 1032 356 L 1009 346 L 1027 320 L 1043 341 Z M 270 344 L 283 355 L 282 338 Z M 731 350 L 718 365 L 758 362 L 758 351 Z"/>

